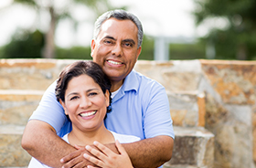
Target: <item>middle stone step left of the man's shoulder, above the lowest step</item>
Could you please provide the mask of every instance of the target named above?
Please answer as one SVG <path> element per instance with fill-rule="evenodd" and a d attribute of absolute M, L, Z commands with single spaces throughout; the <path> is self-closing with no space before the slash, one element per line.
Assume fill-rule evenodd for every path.
<path fill-rule="evenodd" d="M 26 125 L 43 93 L 42 90 L 0 89 L 0 125 Z"/>

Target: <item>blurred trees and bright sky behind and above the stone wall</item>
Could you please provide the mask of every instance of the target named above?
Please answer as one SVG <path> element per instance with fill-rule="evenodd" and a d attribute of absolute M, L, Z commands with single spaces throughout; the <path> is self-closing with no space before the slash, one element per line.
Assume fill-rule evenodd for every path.
<path fill-rule="evenodd" d="M 139 59 L 256 60 L 255 0 L 1 0 L 0 58 L 91 59 L 94 22 L 116 8 L 143 24 Z"/>

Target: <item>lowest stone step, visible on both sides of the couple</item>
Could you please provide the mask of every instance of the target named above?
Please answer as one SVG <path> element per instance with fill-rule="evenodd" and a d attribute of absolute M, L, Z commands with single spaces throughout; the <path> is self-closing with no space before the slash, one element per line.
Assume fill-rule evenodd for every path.
<path fill-rule="evenodd" d="M 24 126 L 0 127 L 0 167 L 27 166 L 30 155 L 20 145 Z M 175 127 L 176 139 L 172 159 L 165 168 L 211 167 L 214 160 L 214 135 L 197 128 Z"/>

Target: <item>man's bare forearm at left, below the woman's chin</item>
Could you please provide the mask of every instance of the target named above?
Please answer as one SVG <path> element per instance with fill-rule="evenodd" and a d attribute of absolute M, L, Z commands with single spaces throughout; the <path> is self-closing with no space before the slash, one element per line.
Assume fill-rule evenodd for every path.
<path fill-rule="evenodd" d="M 61 167 L 60 159 L 70 152 L 77 151 L 59 138 L 48 123 L 37 120 L 27 122 L 21 144 L 31 156 L 51 167 Z M 82 157 L 80 160 L 85 162 Z"/>

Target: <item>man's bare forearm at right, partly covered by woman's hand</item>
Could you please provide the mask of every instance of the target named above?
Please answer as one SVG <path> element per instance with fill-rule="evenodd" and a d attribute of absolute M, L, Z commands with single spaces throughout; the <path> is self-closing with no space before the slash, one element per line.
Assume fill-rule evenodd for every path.
<path fill-rule="evenodd" d="M 172 157 L 174 140 L 165 135 L 156 136 L 154 138 L 144 139 L 139 142 L 123 143 L 123 148 L 128 153 L 133 166 L 138 168 L 155 168 L 169 161 Z M 118 153 L 114 143 L 105 144 L 112 152 Z M 93 146 L 94 149 L 96 147 Z M 69 154 L 63 158 L 65 161 L 64 168 L 69 168 L 72 163 L 73 155 Z M 100 157 L 100 155 L 95 155 Z"/>

